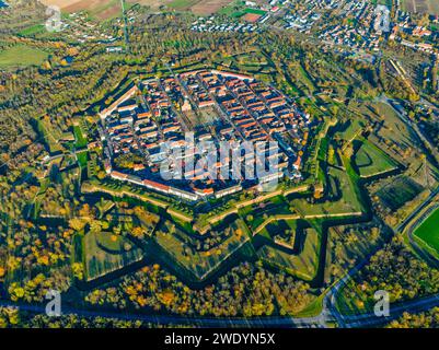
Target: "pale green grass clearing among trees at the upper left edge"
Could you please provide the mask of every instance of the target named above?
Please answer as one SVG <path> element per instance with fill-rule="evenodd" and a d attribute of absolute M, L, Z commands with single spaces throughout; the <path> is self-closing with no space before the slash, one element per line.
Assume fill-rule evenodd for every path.
<path fill-rule="evenodd" d="M 0 69 L 10 70 L 39 66 L 48 57 L 44 50 L 26 45 L 16 45 L 0 51 Z"/>

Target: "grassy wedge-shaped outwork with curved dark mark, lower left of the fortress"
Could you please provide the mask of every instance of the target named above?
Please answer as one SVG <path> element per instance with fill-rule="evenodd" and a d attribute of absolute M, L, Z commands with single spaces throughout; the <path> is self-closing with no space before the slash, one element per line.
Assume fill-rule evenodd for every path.
<path fill-rule="evenodd" d="M 85 278 L 88 281 L 140 261 L 143 252 L 122 236 L 108 232 L 90 232 L 83 237 Z"/>

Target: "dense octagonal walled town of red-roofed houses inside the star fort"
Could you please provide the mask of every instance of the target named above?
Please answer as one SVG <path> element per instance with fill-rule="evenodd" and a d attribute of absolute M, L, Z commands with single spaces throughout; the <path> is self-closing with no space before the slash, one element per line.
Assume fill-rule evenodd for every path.
<path fill-rule="evenodd" d="M 206 124 L 194 119 L 200 115 L 209 116 Z M 201 70 L 147 80 L 117 100 L 101 117 L 102 137 L 108 148 L 105 154 L 113 158 L 106 162 L 106 171 L 115 179 L 197 201 L 220 198 L 286 175 L 301 177 L 309 116 L 282 93 L 252 77 Z M 215 161 L 188 166 L 189 162 L 199 164 L 205 154 L 194 155 L 185 150 L 200 142 L 215 145 Z M 249 161 L 247 153 L 236 153 L 242 164 L 236 176 L 231 159 L 220 156 L 224 142 L 235 145 L 265 142 L 265 158 Z M 181 152 L 175 153 L 176 149 Z M 145 161 L 129 170 L 117 168 L 114 159 L 131 152 L 143 155 Z M 166 174 L 163 162 L 167 165 Z M 261 177 L 245 178 L 249 167 L 265 168 L 268 162 L 274 168 Z"/>

